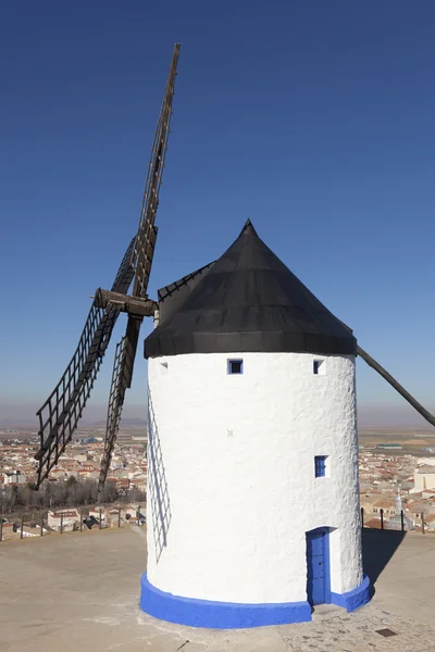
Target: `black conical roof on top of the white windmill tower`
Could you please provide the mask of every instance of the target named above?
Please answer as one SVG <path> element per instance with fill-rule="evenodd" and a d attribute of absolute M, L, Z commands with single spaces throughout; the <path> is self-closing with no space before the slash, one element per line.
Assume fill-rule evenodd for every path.
<path fill-rule="evenodd" d="M 182 353 L 355 354 L 357 340 L 258 237 L 239 237 L 145 340 L 145 356 Z"/>

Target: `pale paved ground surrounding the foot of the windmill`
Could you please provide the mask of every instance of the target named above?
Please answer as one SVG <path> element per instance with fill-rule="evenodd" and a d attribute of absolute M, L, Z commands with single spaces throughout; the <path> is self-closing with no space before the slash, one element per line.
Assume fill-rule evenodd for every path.
<path fill-rule="evenodd" d="M 435 652 L 435 537 L 363 530 L 374 597 L 353 614 L 322 605 L 312 623 L 191 629 L 138 607 L 145 529 L 86 530 L 0 543 L 4 652 Z M 377 630 L 390 629 L 384 638 Z"/>

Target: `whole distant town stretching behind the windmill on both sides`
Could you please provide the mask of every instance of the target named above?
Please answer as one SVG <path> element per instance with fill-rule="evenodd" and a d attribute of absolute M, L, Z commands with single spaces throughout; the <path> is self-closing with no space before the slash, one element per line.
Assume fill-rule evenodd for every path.
<path fill-rule="evenodd" d="M 25 536 L 37 536 L 47 512 L 47 532 L 101 527 L 130 519 L 145 522 L 147 435 L 145 426 L 120 431 L 104 496 L 96 503 L 104 448 L 103 428 L 80 428 L 40 491 L 34 491 L 39 446 L 37 432 L 0 428 L 0 513 L 3 540 L 20 535 L 16 518 L 26 515 Z M 360 504 L 364 526 L 435 532 L 435 437 L 431 430 L 362 430 L 359 447 Z M 114 505 L 117 505 L 116 507 Z M 121 506 L 120 506 L 121 505 Z M 400 513 L 402 513 L 401 522 Z M 82 515 L 82 516 L 80 516 Z M 62 524 L 61 524 L 62 519 Z M 15 523 L 14 523 L 15 521 Z M 32 523 L 34 522 L 34 523 Z"/>

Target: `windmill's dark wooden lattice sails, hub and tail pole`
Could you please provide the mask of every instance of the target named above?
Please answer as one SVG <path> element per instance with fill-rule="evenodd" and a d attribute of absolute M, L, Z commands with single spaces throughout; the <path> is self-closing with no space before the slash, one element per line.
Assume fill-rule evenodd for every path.
<path fill-rule="evenodd" d="M 213 263 L 210 263 L 172 284 L 172 286 L 160 290 L 158 301 L 148 298 L 148 281 L 157 239 L 154 222 L 170 134 L 178 53 L 179 43 L 176 43 L 152 145 L 137 234 L 125 252 L 111 289 L 97 289 L 77 349 L 54 390 L 37 412 L 40 437 L 40 449 L 35 455 L 39 463 L 37 489 L 59 462 L 65 447 L 71 441 L 89 399 L 116 319 L 120 313 L 126 313 L 125 336 L 116 344 L 114 356 L 104 453 L 99 477 L 99 491 L 101 491 L 108 476 L 113 447 L 120 428 L 125 391 L 132 385 L 139 330 L 144 317 L 154 316 L 159 311 L 162 321 L 166 305 L 170 303 L 167 299 L 170 298 L 173 301 L 178 293 L 182 298 L 183 291 L 181 290 L 188 288 L 194 283 L 196 284 L 213 266 Z M 128 294 L 132 283 L 133 290 Z M 357 353 L 381 374 L 428 423 L 435 426 L 435 417 L 399 385 L 384 367 L 360 347 L 358 347 Z"/>

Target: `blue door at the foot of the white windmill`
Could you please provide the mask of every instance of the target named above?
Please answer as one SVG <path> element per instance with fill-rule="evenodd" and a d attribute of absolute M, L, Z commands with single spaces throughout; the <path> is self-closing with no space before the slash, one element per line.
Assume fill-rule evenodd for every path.
<path fill-rule="evenodd" d="M 328 531 L 307 532 L 307 594 L 312 605 L 331 602 Z"/>

